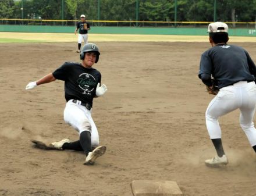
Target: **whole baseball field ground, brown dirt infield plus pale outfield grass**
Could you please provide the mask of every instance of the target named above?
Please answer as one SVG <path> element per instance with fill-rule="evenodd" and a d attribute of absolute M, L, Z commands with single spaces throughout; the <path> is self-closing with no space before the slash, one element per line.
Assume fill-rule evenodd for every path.
<path fill-rule="evenodd" d="M 26 91 L 66 61 L 79 62 L 74 34 L 0 33 L 0 195 L 132 196 L 133 180 L 176 181 L 184 196 L 255 196 L 256 156 L 239 111 L 219 120 L 229 164 L 215 156 L 205 126 L 213 95 L 198 79 L 207 36 L 89 34 L 108 91 L 93 119 L 106 154 L 94 166 L 73 151 L 44 151 L 30 140 L 79 138 L 63 120 L 62 81 Z M 255 37 L 230 37 L 256 62 Z"/>

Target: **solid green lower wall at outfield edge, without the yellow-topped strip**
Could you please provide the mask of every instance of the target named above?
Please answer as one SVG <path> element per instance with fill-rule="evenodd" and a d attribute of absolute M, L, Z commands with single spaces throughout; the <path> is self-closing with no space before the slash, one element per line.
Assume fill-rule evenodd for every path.
<path fill-rule="evenodd" d="M 0 32 L 29 32 L 29 33 L 74 33 L 72 26 L 26 26 L 26 25 L 0 25 Z M 157 35 L 207 35 L 205 28 L 148 28 L 148 27 L 91 27 L 90 33 L 95 34 L 157 34 Z M 229 30 L 230 36 L 256 36 L 255 29 L 233 28 Z"/>

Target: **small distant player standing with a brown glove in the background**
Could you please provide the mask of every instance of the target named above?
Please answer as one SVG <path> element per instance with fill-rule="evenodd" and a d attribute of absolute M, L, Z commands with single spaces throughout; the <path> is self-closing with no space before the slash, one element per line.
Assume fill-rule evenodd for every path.
<path fill-rule="evenodd" d="M 74 30 L 74 34 L 76 35 L 77 30 L 79 30 L 78 35 L 78 50 L 77 52 L 81 52 L 81 43 L 84 40 L 84 44 L 88 43 L 88 30 L 90 30 L 90 24 L 86 22 L 86 16 L 80 16 L 81 21 L 76 24 L 76 30 Z"/>

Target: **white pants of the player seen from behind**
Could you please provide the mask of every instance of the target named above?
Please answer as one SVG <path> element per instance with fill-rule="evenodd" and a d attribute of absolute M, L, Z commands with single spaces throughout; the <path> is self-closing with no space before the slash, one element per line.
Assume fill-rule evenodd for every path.
<path fill-rule="evenodd" d="M 253 147 L 256 145 L 256 129 L 253 123 L 256 104 L 256 85 L 253 82 L 239 81 L 223 87 L 209 103 L 205 112 L 207 130 L 211 139 L 221 138 L 218 118 L 240 109 L 240 126 Z"/>

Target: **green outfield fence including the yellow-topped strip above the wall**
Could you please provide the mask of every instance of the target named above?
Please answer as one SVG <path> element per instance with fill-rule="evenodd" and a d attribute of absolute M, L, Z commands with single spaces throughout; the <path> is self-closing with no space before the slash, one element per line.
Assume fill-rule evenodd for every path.
<path fill-rule="evenodd" d="M 1 32 L 74 33 L 77 20 L 0 19 Z M 207 35 L 211 22 L 87 20 L 95 34 Z M 225 22 L 230 36 L 256 36 L 255 22 Z"/>

